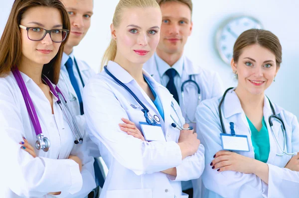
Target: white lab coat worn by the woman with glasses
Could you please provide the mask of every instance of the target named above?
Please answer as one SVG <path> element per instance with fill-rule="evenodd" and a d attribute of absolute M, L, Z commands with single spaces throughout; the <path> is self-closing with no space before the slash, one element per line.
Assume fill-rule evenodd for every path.
<path fill-rule="evenodd" d="M 0 78 L 0 134 L 6 150 L 1 150 L 2 198 L 50 198 L 50 192 L 62 192 L 56 197 L 84 197 L 94 187 L 94 159 L 88 156 L 86 143 L 74 145 L 74 136 L 62 114 L 57 98 L 52 95 L 54 115 L 42 90 L 24 73 L 21 76 L 34 104 L 44 136 L 51 147 L 48 152 L 35 149 L 37 157 L 20 149 L 25 137 L 34 147 L 36 134 L 29 118 L 20 88 L 12 74 Z M 55 85 L 54 85 L 55 87 Z M 3 135 L 4 134 L 4 135 Z M 6 135 L 5 135 L 6 134 Z M 69 155 L 82 160 L 82 171 Z"/>

